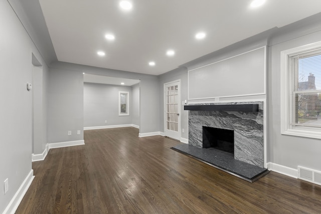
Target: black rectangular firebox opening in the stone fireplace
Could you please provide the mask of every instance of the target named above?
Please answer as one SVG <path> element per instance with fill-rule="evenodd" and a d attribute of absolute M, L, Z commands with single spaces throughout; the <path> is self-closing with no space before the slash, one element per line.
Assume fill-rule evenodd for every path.
<path fill-rule="evenodd" d="M 203 126 L 203 148 L 234 154 L 234 130 Z"/>

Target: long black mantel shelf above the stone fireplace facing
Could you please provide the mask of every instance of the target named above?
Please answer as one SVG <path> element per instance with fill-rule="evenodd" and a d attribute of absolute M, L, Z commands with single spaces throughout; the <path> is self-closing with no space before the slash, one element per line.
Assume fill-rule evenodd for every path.
<path fill-rule="evenodd" d="M 241 111 L 258 112 L 258 104 L 229 104 L 229 105 L 186 105 L 184 110 L 190 111 Z"/>

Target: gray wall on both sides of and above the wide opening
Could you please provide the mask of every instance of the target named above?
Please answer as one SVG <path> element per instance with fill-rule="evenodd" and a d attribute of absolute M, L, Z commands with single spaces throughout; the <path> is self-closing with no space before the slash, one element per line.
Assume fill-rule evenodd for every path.
<path fill-rule="evenodd" d="M 70 128 L 83 127 L 83 72 L 140 80 L 139 133 L 159 131 L 159 82 L 157 76 L 62 62 L 51 64 L 50 67 L 49 142 L 79 140 L 64 135 L 68 133 Z M 58 90 L 55 89 L 57 83 L 60 88 Z"/>

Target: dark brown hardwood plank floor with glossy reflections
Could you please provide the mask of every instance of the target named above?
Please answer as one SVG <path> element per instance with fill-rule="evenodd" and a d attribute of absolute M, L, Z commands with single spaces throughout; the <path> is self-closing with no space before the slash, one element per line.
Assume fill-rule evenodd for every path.
<path fill-rule="evenodd" d="M 131 127 L 84 138 L 33 163 L 16 213 L 321 213 L 319 185 L 276 172 L 250 183 Z"/>

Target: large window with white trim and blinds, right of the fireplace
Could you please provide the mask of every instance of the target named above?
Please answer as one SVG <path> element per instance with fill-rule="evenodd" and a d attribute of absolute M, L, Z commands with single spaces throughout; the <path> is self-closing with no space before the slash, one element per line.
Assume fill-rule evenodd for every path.
<path fill-rule="evenodd" d="M 321 139 L 321 42 L 281 52 L 281 133 Z"/>

